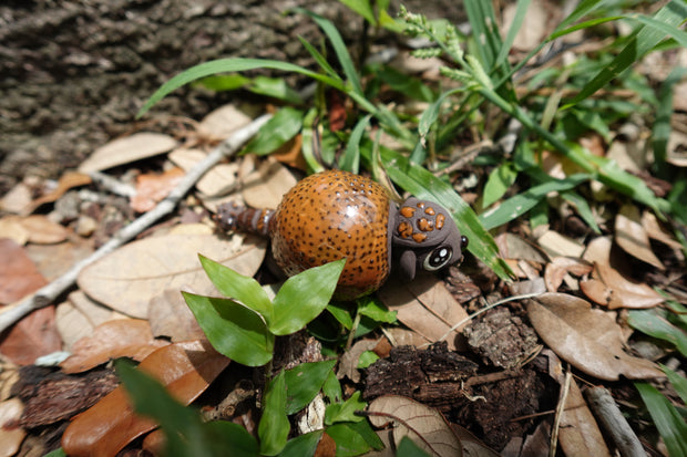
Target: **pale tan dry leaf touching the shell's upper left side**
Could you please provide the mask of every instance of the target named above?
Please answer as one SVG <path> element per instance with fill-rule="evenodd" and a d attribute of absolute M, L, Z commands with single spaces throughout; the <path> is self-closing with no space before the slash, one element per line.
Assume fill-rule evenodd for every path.
<path fill-rule="evenodd" d="M 246 177 L 242 195 L 253 208 L 275 209 L 296 183 L 296 177 L 284 165 L 270 158 Z"/>

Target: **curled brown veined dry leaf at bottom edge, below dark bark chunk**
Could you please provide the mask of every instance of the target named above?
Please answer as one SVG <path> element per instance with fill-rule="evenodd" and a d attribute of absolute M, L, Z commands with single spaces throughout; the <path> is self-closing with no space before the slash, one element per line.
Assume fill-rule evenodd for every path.
<path fill-rule="evenodd" d="M 437 409 L 399 395 L 384 395 L 373 399 L 367 411 L 376 427 L 393 423 L 397 446 L 408 436 L 432 456 L 462 456 L 460 439 Z"/>

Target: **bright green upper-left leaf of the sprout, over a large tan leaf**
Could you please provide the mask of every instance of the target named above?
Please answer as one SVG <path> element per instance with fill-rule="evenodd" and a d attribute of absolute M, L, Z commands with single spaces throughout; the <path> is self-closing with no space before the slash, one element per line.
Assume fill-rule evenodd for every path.
<path fill-rule="evenodd" d="M 207 277 L 223 295 L 242 302 L 259 313 L 266 322 L 271 321 L 271 302 L 259 282 L 250 277 L 237 273 L 207 257 L 201 255 L 198 257 Z"/>

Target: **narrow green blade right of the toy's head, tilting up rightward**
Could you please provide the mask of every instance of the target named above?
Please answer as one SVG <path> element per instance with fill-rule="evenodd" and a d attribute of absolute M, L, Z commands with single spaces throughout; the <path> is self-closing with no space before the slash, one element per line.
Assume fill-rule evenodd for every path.
<path fill-rule="evenodd" d="M 503 226 L 534 208 L 548 193 L 572 189 L 588 178 L 588 175 L 578 174 L 531 187 L 524 193 L 517 194 L 501 202 L 501 205 L 494 209 L 490 209 L 480 215 L 480 221 L 488 230 Z"/>

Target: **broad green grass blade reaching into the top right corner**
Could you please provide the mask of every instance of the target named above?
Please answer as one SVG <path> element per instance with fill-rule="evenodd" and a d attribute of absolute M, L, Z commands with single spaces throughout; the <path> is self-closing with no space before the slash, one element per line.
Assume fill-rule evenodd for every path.
<path fill-rule="evenodd" d="M 656 46 L 665 37 L 666 32 L 656 27 L 656 22 L 677 27 L 687 17 L 687 7 L 679 4 L 679 0 L 670 1 L 654 14 L 653 27 L 643 27 L 621 53 L 596 76 L 592 79 L 573 100 L 568 101 L 562 110 L 576 105 L 599 89 L 606 86 L 618 74 L 639 61 L 647 52 Z M 638 17 L 635 17 L 638 20 Z M 645 18 L 646 20 L 647 18 Z"/>

